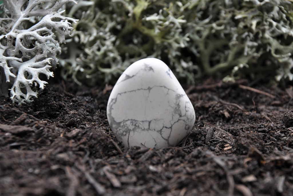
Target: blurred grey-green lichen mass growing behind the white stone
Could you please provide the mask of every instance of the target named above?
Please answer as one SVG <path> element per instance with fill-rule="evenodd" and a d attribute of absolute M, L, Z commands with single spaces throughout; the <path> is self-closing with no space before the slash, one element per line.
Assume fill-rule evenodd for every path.
<path fill-rule="evenodd" d="M 205 76 L 293 80 L 292 0 L 91 0 L 62 45 L 62 77 L 115 83 L 133 62 L 163 60 L 187 84 Z"/>

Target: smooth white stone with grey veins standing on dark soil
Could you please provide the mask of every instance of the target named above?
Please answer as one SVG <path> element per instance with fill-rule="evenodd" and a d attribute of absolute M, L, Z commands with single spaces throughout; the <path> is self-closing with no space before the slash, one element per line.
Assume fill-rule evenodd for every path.
<path fill-rule="evenodd" d="M 176 146 L 193 128 L 195 112 L 163 61 L 145 58 L 130 65 L 115 84 L 107 117 L 125 146 Z"/>

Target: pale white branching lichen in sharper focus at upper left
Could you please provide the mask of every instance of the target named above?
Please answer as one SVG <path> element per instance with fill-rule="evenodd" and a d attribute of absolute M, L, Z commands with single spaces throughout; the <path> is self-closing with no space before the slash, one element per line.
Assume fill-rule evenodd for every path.
<path fill-rule="evenodd" d="M 29 103 L 53 77 L 60 43 L 77 20 L 62 16 L 62 6 L 74 0 L 4 0 L 0 5 L 0 96 Z M 58 39 L 57 39 L 58 38 Z M 10 89 L 8 89 L 10 88 Z"/>

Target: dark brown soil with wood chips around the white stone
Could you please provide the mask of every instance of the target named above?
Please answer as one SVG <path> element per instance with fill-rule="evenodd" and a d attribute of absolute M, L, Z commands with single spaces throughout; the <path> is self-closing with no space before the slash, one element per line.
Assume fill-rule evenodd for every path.
<path fill-rule="evenodd" d="M 1 98 L 0 195 L 293 195 L 292 87 L 185 89 L 195 126 L 163 149 L 117 142 L 109 87 L 51 85 L 23 106 Z"/>

